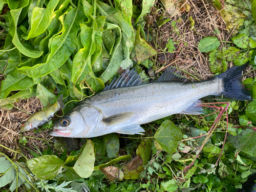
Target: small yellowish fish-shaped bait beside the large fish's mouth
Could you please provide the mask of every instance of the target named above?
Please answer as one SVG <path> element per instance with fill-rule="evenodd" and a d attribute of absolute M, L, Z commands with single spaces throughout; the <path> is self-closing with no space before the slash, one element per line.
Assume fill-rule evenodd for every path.
<path fill-rule="evenodd" d="M 20 127 L 21 132 L 30 131 L 38 126 L 48 122 L 59 109 L 64 109 L 65 104 L 62 102 L 63 95 L 60 95 L 58 100 L 49 105 L 46 109 L 36 112 Z"/>

